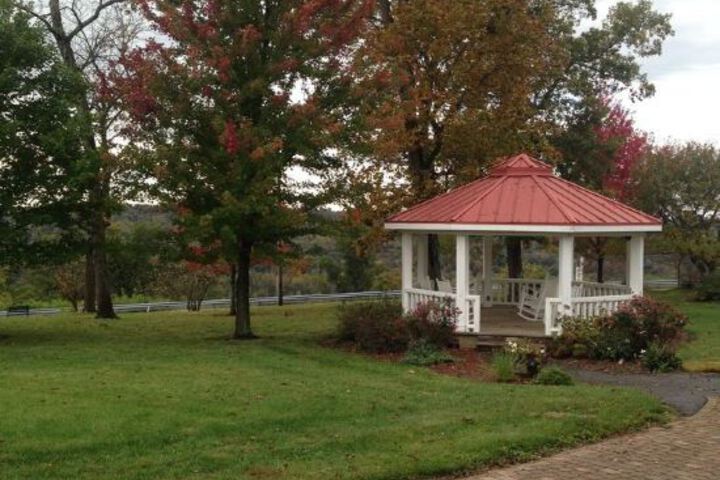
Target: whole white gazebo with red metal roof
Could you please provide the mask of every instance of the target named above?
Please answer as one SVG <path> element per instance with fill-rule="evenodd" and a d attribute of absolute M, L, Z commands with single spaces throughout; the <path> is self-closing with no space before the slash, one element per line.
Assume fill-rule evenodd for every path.
<path fill-rule="evenodd" d="M 449 298 L 460 310 L 458 333 L 551 336 L 565 316 L 589 318 L 612 312 L 643 293 L 645 235 L 662 230 L 655 217 L 553 174 L 550 165 L 522 154 L 486 177 L 390 217 L 385 228 L 402 233 L 402 303 Z M 428 277 L 428 234 L 456 239 L 451 281 Z M 557 278 L 495 278 L 493 237 L 546 236 L 558 242 Z M 575 238 L 614 236 L 627 240 L 624 284 L 575 278 Z M 482 275 L 470 278 L 470 243 L 482 239 Z M 415 247 L 415 248 L 414 248 Z M 415 250 L 415 251 L 414 251 Z"/>

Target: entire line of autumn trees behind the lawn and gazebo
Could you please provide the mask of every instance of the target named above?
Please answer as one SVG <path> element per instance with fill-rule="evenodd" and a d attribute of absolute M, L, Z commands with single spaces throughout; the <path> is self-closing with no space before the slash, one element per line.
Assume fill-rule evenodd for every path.
<path fill-rule="evenodd" d="M 672 35 L 648 0 L 602 19 L 594 0 L 0 0 L 0 23 L 2 263 L 82 256 L 101 318 L 128 201 L 171 211 L 189 260 L 225 262 L 234 336 L 251 338 L 257 259 L 331 228 L 361 261 L 388 214 L 498 157 L 528 151 L 673 222 L 685 200 L 638 178 L 677 180 L 654 165 L 678 155 L 717 169 L 711 147 L 653 147 L 617 104 L 653 94 L 640 62 Z M 520 276 L 519 241 L 506 248 Z"/>

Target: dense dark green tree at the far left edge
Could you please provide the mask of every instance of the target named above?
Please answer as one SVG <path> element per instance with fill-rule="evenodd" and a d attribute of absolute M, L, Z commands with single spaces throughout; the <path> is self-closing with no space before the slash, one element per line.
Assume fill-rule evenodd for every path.
<path fill-rule="evenodd" d="M 78 78 L 28 14 L 0 0 L 0 259 L 67 260 L 87 192 Z"/>

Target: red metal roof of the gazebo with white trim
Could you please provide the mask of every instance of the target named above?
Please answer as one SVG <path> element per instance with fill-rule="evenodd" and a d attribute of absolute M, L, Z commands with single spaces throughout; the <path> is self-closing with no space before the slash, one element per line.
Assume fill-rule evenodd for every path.
<path fill-rule="evenodd" d="M 504 233 L 658 232 L 662 222 L 553 174 L 526 154 L 390 217 L 385 228 Z"/>

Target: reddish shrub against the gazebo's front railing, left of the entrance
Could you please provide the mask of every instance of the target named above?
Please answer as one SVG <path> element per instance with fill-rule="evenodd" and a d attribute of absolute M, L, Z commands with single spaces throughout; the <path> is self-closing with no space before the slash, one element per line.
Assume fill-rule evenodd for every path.
<path fill-rule="evenodd" d="M 438 348 L 451 345 L 455 340 L 455 325 L 460 311 L 450 299 L 442 302 L 425 302 L 405 316 L 410 337 L 425 340 Z"/>

